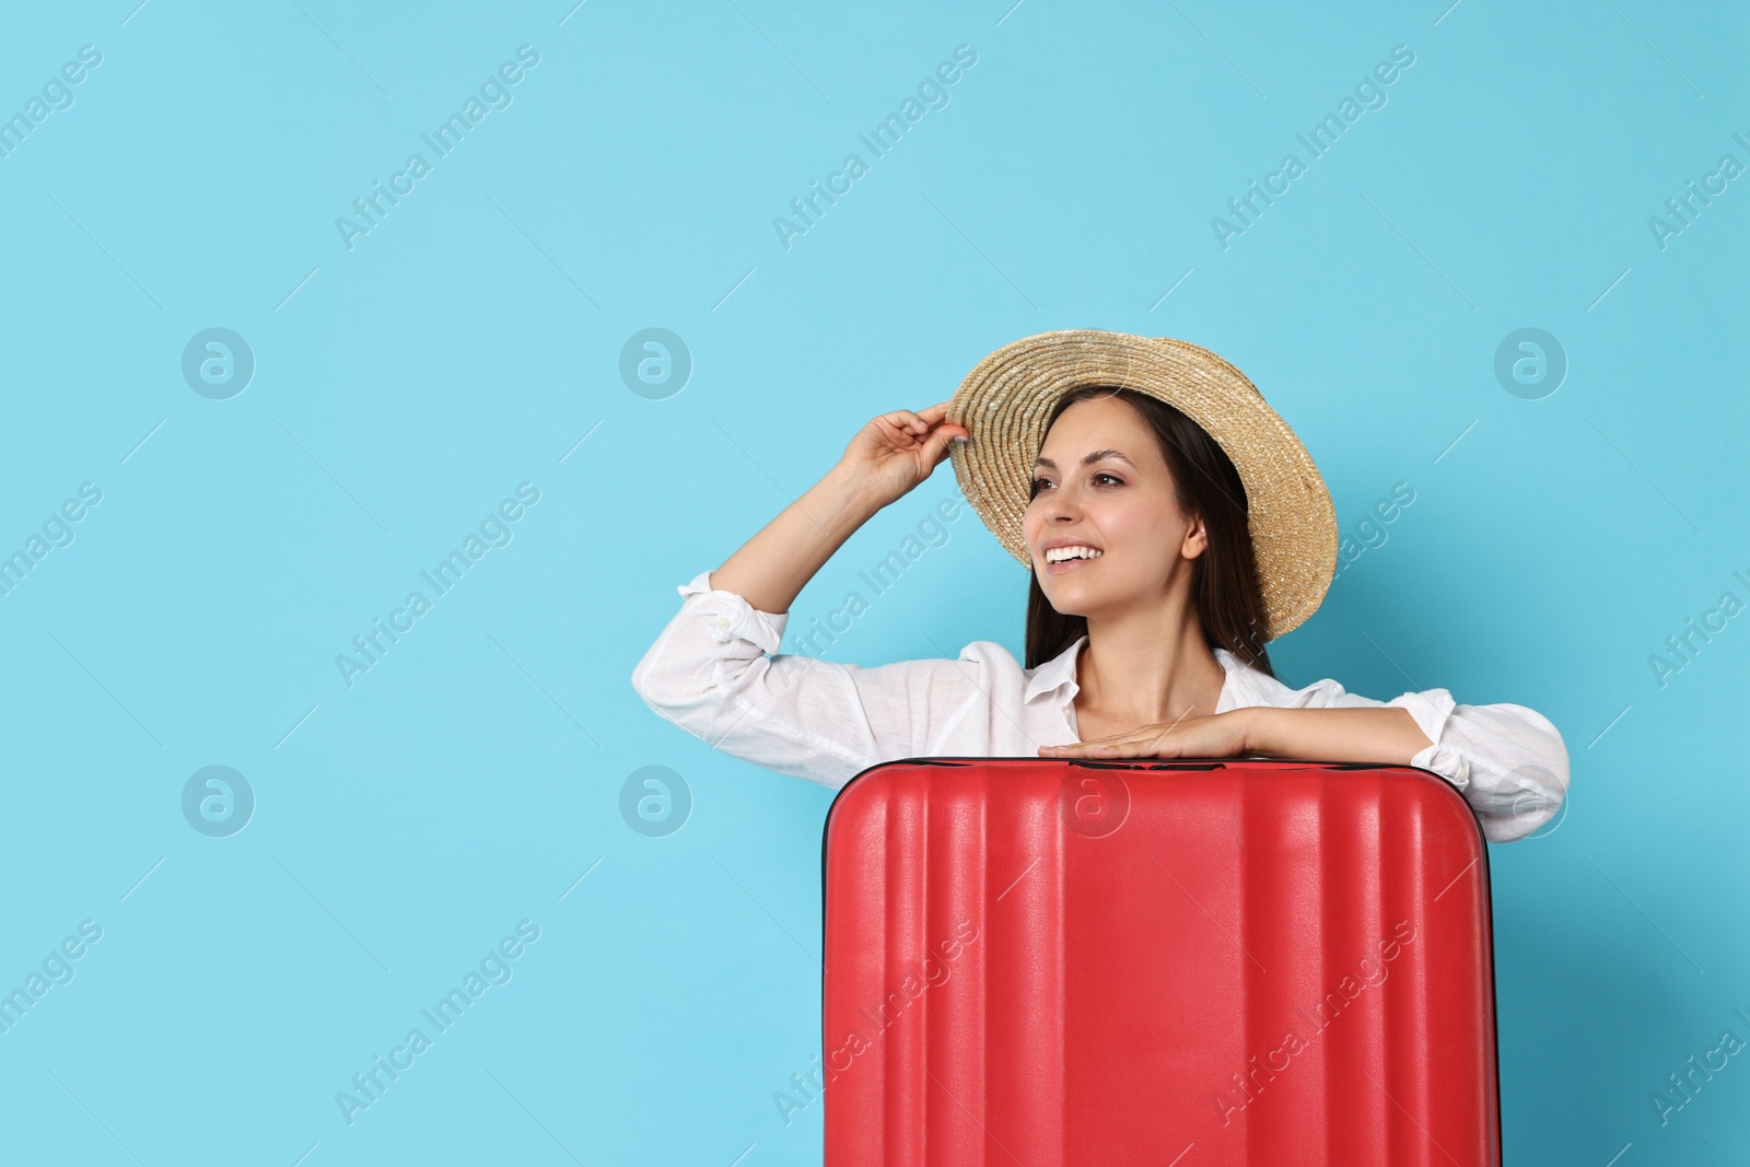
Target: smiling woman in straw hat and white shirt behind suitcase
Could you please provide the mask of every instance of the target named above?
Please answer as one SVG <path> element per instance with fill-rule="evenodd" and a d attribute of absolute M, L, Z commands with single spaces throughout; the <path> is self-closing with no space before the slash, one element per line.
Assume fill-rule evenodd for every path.
<path fill-rule="evenodd" d="M 968 502 L 1031 569 L 1026 667 L 990 640 L 877 668 L 777 654 L 803 584 L 950 450 Z M 952 401 L 864 425 L 677 588 L 632 684 L 712 747 L 830 787 L 900 758 L 1264 754 L 1432 770 L 1489 842 L 1549 822 L 1568 752 L 1542 714 L 1276 679 L 1264 644 L 1312 614 L 1335 549 L 1312 458 L 1239 369 L 1176 339 L 1043 332 L 985 357 Z"/>

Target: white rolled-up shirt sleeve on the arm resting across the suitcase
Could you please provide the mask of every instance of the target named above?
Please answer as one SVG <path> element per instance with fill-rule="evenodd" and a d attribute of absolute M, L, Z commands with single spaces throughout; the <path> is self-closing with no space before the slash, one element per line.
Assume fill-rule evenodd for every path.
<path fill-rule="evenodd" d="M 1568 747 L 1556 726 L 1524 705 L 1458 705 L 1447 689 L 1404 693 L 1379 702 L 1348 693 L 1335 681 L 1302 689 L 1307 707 L 1386 705 L 1409 710 L 1428 738 L 1410 758 L 1465 794 L 1482 836 L 1510 843 L 1556 817 L 1568 796 Z"/>

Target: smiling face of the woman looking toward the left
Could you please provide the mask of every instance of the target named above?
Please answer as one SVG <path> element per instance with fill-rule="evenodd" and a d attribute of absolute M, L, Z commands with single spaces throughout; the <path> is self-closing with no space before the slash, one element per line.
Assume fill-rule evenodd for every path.
<path fill-rule="evenodd" d="M 1158 604 L 1208 546 L 1202 523 L 1180 511 L 1155 430 L 1118 397 L 1057 415 L 1020 528 L 1040 590 L 1064 616 Z M 1059 542 L 1099 556 L 1050 563 L 1046 546 Z"/>

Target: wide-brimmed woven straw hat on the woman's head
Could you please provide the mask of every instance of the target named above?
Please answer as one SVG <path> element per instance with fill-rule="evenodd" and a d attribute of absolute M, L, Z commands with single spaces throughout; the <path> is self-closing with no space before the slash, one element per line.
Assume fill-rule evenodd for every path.
<path fill-rule="evenodd" d="M 948 443 L 954 476 L 990 534 L 1032 567 L 1020 532 L 1045 418 L 1071 388 L 1118 385 L 1202 425 L 1246 486 L 1265 640 L 1318 609 L 1337 570 L 1337 513 L 1312 457 L 1256 385 L 1208 348 L 1167 336 L 1068 329 L 1027 336 L 980 360 L 948 401 L 968 439 Z"/>

